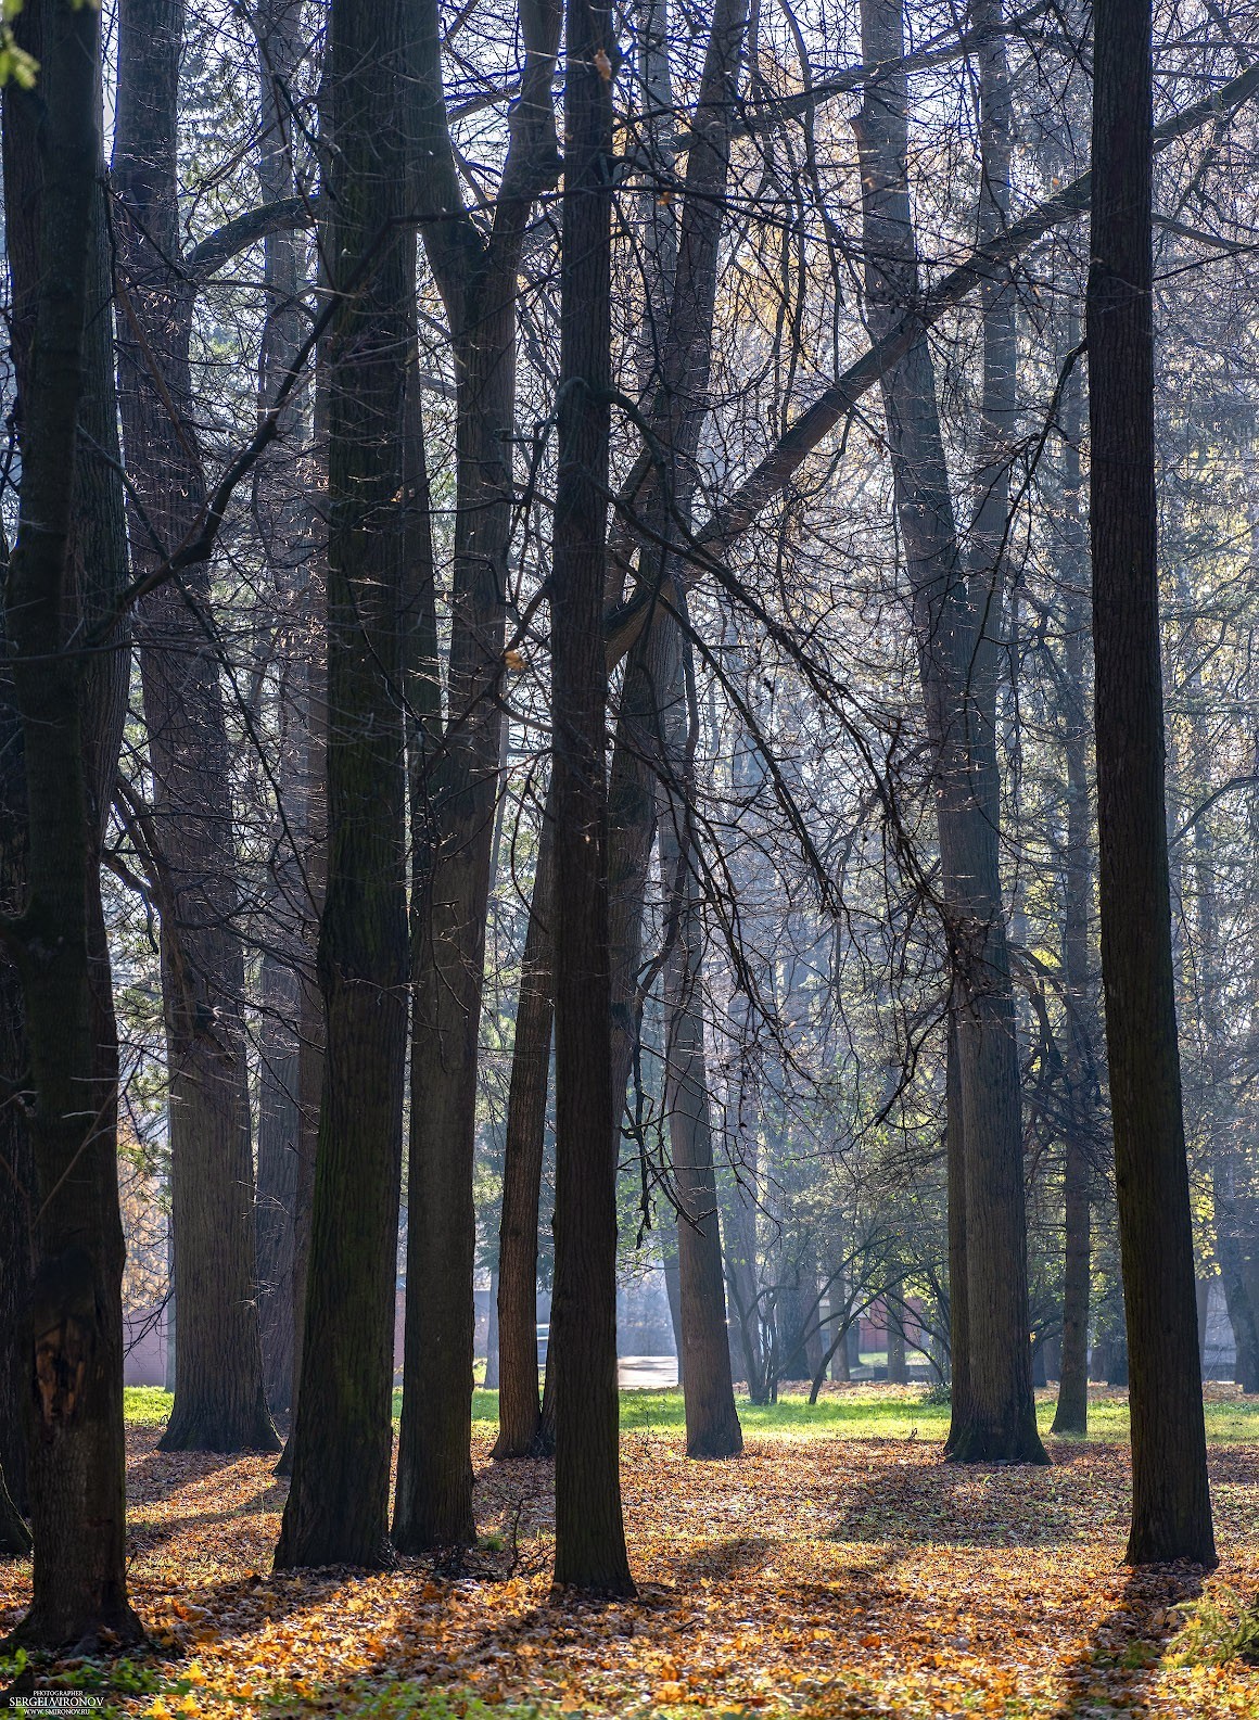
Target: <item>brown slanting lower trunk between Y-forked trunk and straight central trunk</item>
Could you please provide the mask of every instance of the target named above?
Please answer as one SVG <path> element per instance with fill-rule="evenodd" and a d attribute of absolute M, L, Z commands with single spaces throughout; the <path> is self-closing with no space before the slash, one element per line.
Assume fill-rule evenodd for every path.
<path fill-rule="evenodd" d="M 554 800 L 538 831 L 516 1044 L 507 1089 L 499 1225 L 499 1438 L 495 1457 L 538 1457 L 538 1199 L 550 1073 L 550 972 L 554 960 Z"/>

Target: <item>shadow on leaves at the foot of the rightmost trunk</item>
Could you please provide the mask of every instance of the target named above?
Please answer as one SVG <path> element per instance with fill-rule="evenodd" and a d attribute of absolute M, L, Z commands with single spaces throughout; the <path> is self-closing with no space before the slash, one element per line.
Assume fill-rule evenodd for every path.
<path fill-rule="evenodd" d="M 1166 1610 L 1202 1593 L 1199 1565 L 1147 1565 L 1133 1570 L 1123 1594 L 1101 1619 L 1087 1646 L 1063 1670 L 1066 1694 L 1054 1720 L 1094 1713 L 1101 1701 L 1137 1711 L 1135 1699 L 1158 1665 L 1175 1625 Z M 1097 1686 L 1102 1687 L 1099 1696 Z"/>

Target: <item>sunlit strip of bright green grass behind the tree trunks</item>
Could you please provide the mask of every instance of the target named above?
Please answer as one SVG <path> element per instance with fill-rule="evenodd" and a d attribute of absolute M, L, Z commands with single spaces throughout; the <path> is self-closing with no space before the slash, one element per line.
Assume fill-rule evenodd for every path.
<path fill-rule="evenodd" d="M 943 1440 L 949 1426 L 948 1404 L 924 1404 L 924 1388 L 855 1386 L 850 1391 L 808 1404 L 801 1395 L 777 1404 L 748 1404 L 740 1398 L 740 1419 L 750 1438 L 765 1440 Z M 170 1393 L 158 1386 L 127 1386 L 126 1417 L 136 1428 L 160 1428 L 170 1414 Z M 402 1393 L 394 1391 L 394 1419 L 402 1412 Z M 488 1433 L 499 1419 L 499 1393 L 473 1391 L 473 1424 Z M 1051 1391 L 1037 1393 L 1041 1433 L 1054 1419 Z M 623 1391 L 621 1428 L 626 1433 L 681 1433 L 683 1398 L 678 1390 Z M 1259 1443 L 1259 1400 L 1225 1400 L 1206 1405 L 1206 1431 L 1213 1445 Z M 1089 1405 L 1089 1438 L 1127 1440 L 1128 1405 L 1123 1398 L 1099 1398 Z"/>

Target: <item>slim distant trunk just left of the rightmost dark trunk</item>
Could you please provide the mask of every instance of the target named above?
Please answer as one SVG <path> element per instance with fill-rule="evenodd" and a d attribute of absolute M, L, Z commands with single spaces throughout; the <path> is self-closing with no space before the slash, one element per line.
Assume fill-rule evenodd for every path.
<path fill-rule="evenodd" d="M 1078 344 L 1078 316 L 1068 320 L 1068 351 Z M 1063 557 L 1066 588 L 1063 705 L 1066 757 L 1066 865 L 1063 903 L 1063 982 L 1066 986 L 1066 1154 L 1063 1164 L 1063 1361 L 1054 1433 L 1089 1431 L 1089 1280 L 1090 1280 L 1090 1121 L 1096 1082 L 1090 1056 L 1094 1013 L 1089 905 L 1092 901 L 1092 805 L 1089 795 L 1089 714 L 1085 705 L 1085 612 L 1089 566 L 1080 518 L 1080 442 L 1084 385 L 1077 370 L 1063 394 Z"/>

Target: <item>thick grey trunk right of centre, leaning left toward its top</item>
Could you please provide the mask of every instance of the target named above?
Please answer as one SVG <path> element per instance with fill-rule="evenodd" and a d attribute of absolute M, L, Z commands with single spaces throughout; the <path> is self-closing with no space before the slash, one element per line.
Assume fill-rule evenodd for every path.
<path fill-rule="evenodd" d="M 903 53 L 898 0 L 863 0 L 862 52 Z M 918 301 L 910 218 L 908 91 L 903 74 L 867 84 L 857 120 L 867 255 L 867 316 L 877 339 Z M 968 1404 L 948 1455 L 958 1462 L 1046 1462 L 1035 1429 L 1027 1218 L 1015 998 L 998 848 L 989 605 L 975 628 L 925 335 L 882 377 L 896 511 L 913 592 L 953 968 L 958 1090 L 965 1140 Z"/>

